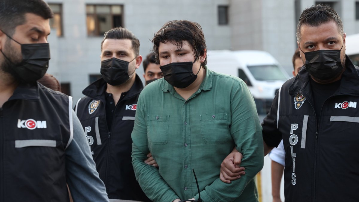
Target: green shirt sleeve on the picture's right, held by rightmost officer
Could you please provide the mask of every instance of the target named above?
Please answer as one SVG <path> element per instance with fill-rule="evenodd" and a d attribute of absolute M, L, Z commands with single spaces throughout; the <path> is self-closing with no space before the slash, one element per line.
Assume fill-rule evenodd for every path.
<path fill-rule="evenodd" d="M 246 174 L 229 184 L 217 178 L 200 192 L 204 202 L 233 201 L 240 197 L 264 164 L 262 127 L 253 96 L 244 82 L 240 82 L 232 91 L 231 117 L 230 133 L 237 150 L 243 155 L 241 166 L 246 168 Z M 251 193 L 246 195 L 254 194 L 253 189 L 247 190 Z M 197 198 L 198 194 L 195 196 Z"/>

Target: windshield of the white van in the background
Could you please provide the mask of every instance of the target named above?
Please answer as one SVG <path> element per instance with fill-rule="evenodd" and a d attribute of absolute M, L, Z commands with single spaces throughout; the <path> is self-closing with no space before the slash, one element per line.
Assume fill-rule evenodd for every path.
<path fill-rule="evenodd" d="M 287 79 L 277 65 L 248 66 L 248 69 L 257 81 Z"/>

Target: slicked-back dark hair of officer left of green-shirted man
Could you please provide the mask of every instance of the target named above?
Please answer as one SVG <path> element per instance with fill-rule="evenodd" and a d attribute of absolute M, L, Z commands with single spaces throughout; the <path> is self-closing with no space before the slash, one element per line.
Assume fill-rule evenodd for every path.
<path fill-rule="evenodd" d="M 135 56 L 140 55 L 140 41 L 130 30 L 123 27 L 116 27 L 107 31 L 104 36 L 101 42 L 101 51 L 103 42 L 106 39 L 129 39 L 132 41 L 132 49 L 134 50 Z"/>

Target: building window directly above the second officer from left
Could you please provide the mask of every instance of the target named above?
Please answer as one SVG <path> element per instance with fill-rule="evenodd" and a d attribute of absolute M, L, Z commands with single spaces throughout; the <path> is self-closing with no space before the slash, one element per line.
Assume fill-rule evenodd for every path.
<path fill-rule="evenodd" d="M 115 27 L 123 27 L 122 5 L 86 5 L 88 36 L 103 36 Z"/>

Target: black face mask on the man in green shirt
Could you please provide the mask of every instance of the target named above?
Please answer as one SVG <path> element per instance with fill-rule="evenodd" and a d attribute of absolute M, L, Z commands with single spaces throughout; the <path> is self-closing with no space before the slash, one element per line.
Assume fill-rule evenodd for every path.
<path fill-rule="evenodd" d="M 164 80 L 169 84 L 177 88 L 186 88 L 191 85 L 197 78 L 197 74 L 193 74 L 192 66 L 195 62 L 184 63 L 169 63 L 167 65 L 160 66 L 159 68 L 163 72 Z"/>

